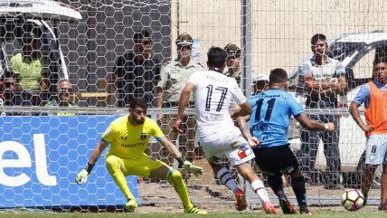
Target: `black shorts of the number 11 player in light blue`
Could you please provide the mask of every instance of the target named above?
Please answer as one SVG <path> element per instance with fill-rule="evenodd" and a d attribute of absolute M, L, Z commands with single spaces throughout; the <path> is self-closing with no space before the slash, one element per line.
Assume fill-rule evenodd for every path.
<path fill-rule="evenodd" d="M 254 149 L 255 161 L 267 175 L 291 175 L 298 169 L 295 154 L 289 145 Z"/>

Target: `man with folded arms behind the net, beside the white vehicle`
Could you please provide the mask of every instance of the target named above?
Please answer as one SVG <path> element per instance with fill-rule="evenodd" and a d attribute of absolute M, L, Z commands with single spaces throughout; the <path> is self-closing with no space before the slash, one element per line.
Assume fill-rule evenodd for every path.
<path fill-rule="evenodd" d="M 311 39 L 313 57 L 304 62 L 299 68 L 301 81 L 305 82 L 307 109 L 335 109 L 337 105 L 337 94 L 347 89 L 345 80 L 345 69 L 339 62 L 326 56 L 328 45 L 326 36 L 321 33 L 315 34 Z M 318 174 L 315 172 L 317 147 L 319 138 L 324 143 L 324 154 L 326 155 L 326 189 L 344 189 L 340 178 L 340 154 L 339 154 L 339 118 L 338 115 L 311 114 L 309 118 L 322 122 L 334 122 L 335 131 L 314 132 L 302 129 L 301 131 L 301 163 L 302 171 L 309 183 L 316 183 Z"/>

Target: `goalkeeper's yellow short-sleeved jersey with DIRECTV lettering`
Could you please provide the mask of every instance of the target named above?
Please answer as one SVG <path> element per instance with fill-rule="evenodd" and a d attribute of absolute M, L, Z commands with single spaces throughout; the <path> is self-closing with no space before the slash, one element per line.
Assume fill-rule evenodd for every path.
<path fill-rule="evenodd" d="M 102 135 L 102 139 L 110 143 L 107 156 L 121 158 L 138 158 L 142 156 L 150 137 L 158 140 L 164 133 L 151 118 L 146 118 L 143 125 L 133 126 L 128 115 L 115 119 Z"/>

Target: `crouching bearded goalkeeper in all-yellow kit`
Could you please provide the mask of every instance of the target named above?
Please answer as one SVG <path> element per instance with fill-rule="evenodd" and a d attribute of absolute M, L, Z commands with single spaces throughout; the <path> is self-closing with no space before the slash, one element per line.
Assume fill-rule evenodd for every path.
<path fill-rule="evenodd" d="M 206 214 L 203 210 L 194 206 L 188 196 L 188 190 L 184 184 L 182 175 L 178 170 L 165 165 L 165 163 L 147 156 L 144 152 L 150 137 L 156 139 L 177 159 L 179 167 L 184 167 L 193 175 L 203 173 L 199 166 L 193 166 L 184 160 L 177 150 L 163 134 L 157 124 L 146 117 L 146 102 L 141 98 L 131 100 L 130 114 L 117 118 L 110 123 L 109 128 L 103 133 L 97 147 L 94 148 L 89 163 L 76 177 L 78 185 L 86 183 L 90 172 L 99 159 L 102 151 L 109 146 L 106 155 L 106 166 L 122 193 L 127 197 L 126 211 L 134 211 L 137 201 L 131 194 L 125 177 L 138 175 L 143 178 L 164 179 L 170 182 L 184 205 L 184 213 Z"/>

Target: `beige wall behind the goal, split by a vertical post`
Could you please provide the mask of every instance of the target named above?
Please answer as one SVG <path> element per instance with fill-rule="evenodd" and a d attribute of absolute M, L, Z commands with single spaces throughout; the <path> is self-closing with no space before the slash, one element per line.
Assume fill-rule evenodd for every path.
<path fill-rule="evenodd" d="M 382 0 L 252 0 L 252 69 L 266 72 L 274 67 L 293 71 L 310 51 L 310 37 L 325 33 L 384 30 Z M 173 0 L 172 34 L 192 33 L 201 39 L 201 62 L 211 45 L 241 44 L 241 0 Z M 176 4 L 179 3 L 180 20 Z M 174 50 L 173 50 L 174 51 Z"/>

